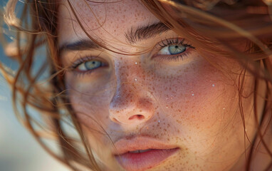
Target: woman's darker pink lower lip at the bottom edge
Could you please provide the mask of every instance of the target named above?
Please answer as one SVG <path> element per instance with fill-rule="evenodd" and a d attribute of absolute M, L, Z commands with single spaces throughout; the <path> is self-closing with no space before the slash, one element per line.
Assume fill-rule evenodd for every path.
<path fill-rule="evenodd" d="M 143 171 L 159 165 L 178 150 L 179 148 L 150 150 L 141 153 L 127 152 L 115 155 L 115 158 L 127 171 Z"/>

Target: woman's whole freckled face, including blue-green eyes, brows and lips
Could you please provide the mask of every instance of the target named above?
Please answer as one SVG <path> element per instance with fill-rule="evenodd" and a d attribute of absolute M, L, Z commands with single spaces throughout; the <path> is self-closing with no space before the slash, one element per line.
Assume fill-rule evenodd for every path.
<path fill-rule="evenodd" d="M 66 88 L 105 170 L 229 170 L 243 155 L 235 61 L 197 46 L 139 1 L 71 1 L 59 9 Z M 98 45 L 101 43 L 108 49 Z M 231 72 L 230 72 L 231 71 Z M 243 98 L 253 135 L 251 76 Z M 139 151 L 140 150 L 140 151 Z"/>

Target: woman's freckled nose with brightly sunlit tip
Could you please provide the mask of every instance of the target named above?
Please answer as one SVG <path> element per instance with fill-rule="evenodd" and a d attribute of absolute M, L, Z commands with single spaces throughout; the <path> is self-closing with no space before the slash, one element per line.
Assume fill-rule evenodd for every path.
<path fill-rule="evenodd" d="M 140 68 L 126 68 L 115 68 L 117 85 L 110 101 L 110 119 L 121 125 L 139 125 L 155 114 L 154 103 L 145 84 L 137 79 Z"/>

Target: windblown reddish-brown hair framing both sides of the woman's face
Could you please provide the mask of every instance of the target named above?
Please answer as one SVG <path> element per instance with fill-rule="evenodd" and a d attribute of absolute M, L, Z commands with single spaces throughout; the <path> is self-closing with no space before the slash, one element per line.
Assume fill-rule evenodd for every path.
<path fill-rule="evenodd" d="M 68 7 L 73 11 L 72 15 L 80 24 L 73 5 L 69 0 L 67 1 Z M 19 67 L 16 71 L 11 71 L 0 63 L 0 71 L 12 88 L 16 115 L 41 146 L 68 167 L 73 170 L 80 170 L 80 167 L 84 167 L 85 170 L 87 168 L 103 170 L 93 156 L 66 95 L 63 81 L 66 68 L 63 68 L 59 61 L 57 43 L 60 2 L 25 0 L 21 6 L 18 4 L 19 1 L 9 0 L 3 12 L 9 33 L 15 33 L 12 47 L 15 47 L 16 51 L 12 53 L 9 51 L 12 47 L 11 44 L 4 42 L 4 35 L 1 36 L 1 41 L 4 48 L 8 49 L 7 55 L 11 56 Z M 259 144 L 266 148 L 271 157 L 271 162 L 266 167 L 266 170 L 271 170 L 272 152 L 263 136 L 266 131 L 272 129 L 268 127 L 271 126 L 272 116 L 272 2 L 268 0 L 142 0 L 142 4 L 173 31 L 189 38 L 194 46 L 197 46 L 199 53 L 203 51 L 222 58 L 233 58 L 244 66 L 239 76 L 238 92 L 245 137 L 246 125 L 242 105 L 242 100 L 246 98 L 242 95 L 244 76 L 246 72 L 251 72 L 255 76 L 253 110 L 256 135 L 251 140 L 246 170 L 251 169 L 254 150 Z M 20 14 L 16 14 L 18 7 L 21 9 Z M 3 27 L 3 30 L 7 31 L 7 28 Z M 84 28 L 83 30 L 85 31 Z M 87 31 L 85 33 L 88 35 Z M 95 41 L 94 38 L 90 38 Z M 233 42 L 237 41 L 246 42 L 244 51 L 234 46 Z M 37 69 L 33 66 L 37 58 L 42 58 L 37 53 L 44 46 L 47 49 L 46 62 Z M 101 46 L 107 48 L 103 44 Z M 206 53 L 201 55 L 205 58 Z M 211 59 L 207 58 L 207 60 L 217 68 L 223 69 Z M 44 73 L 48 71 L 50 76 L 44 78 Z M 266 96 L 263 97 L 265 102 L 260 119 L 257 115 L 256 98 L 261 81 L 266 84 Z M 29 107 L 36 109 L 38 113 L 30 113 Z M 75 129 L 76 135 L 66 131 L 67 125 Z M 52 150 L 51 142 L 54 142 L 59 150 Z"/>

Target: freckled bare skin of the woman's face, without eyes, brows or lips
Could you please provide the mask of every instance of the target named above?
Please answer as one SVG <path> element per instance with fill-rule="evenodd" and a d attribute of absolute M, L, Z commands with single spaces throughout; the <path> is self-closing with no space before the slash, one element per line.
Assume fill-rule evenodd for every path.
<path fill-rule="evenodd" d="M 90 36 L 120 51 L 137 53 L 164 38 L 182 37 L 169 31 L 132 46 L 125 40 L 127 29 L 159 21 L 138 1 L 90 3 L 97 19 L 82 1 L 71 2 Z M 64 2 L 59 10 L 60 44 L 87 38 L 70 19 L 67 6 Z M 235 73 L 219 71 L 197 51 L 183 61 L 171 62 L 156 61 L 150 53 L 128 56 L 97 50 L 66 52 L 62 55 L 63 64 L 68 66 L 79 56 L 95 54 L 108 62 L 108 68 L 80 76 L 67 72 L 66 87 L 72 107 L 105 170 L 122 170 L 110 151 L 110 139 L 116 142 L 130 135 L 148 135 L 181 149 L 150 170 L 230 170 L 243 155 L 244 128 Z M 225 68 L 241 70 L 234 61 L 215 58 Z M 246 83 L 252 85 L 251 76 L 246 77 Z M 251 86 L 245 90 L 250 91 Z M 252 97 L 243 104 L 251 106 Z M 246 125 L 253 125 L 251 108 L 245 109 Z M 253 128 L 247 130 L 251 138 Z"/>

